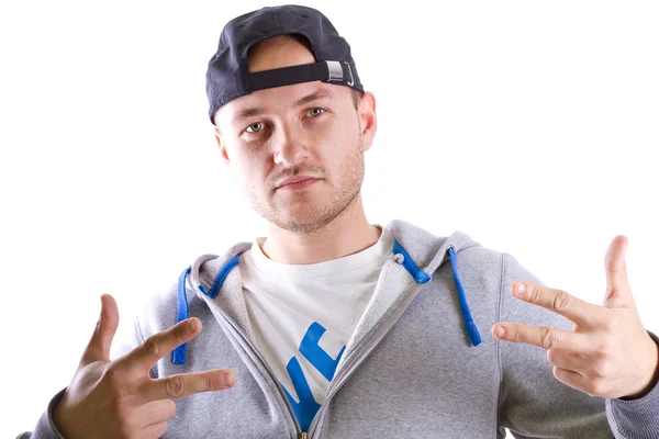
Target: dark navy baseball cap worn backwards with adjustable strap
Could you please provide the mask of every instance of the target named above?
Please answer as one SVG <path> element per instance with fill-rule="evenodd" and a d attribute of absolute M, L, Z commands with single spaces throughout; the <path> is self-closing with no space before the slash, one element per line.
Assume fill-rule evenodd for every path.
<path fill-rule="evenodd" d="M 279 35 L 305 37 L 316 63 L 249 72 L 249 49 Z M 295 4 L 261 8 L 233 19 L 222 30 L 206 71 L 209 116 L 214 124 L 220 106 L 256 90 L 319 80 L 364 92 L 350 46 L 323 13 Z"/>

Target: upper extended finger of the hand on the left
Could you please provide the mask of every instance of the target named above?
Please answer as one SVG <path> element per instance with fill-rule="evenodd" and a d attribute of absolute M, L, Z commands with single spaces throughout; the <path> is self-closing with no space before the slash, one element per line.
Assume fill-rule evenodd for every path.
<path fill-rule="evenodd" d="M 201 333 L 201 320 L 187 318 L 172 327 L 154 334 L 119 361 L 122 367 L 148 371 L 160 358 Z"/>

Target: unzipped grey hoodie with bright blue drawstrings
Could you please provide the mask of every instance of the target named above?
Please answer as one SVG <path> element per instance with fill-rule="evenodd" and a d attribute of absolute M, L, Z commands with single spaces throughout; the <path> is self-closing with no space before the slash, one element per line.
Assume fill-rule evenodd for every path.
<path fill-rule="evenodd" d="M 510 294 L 541 283 L 511 255 L 463 233 L 437 237 L 403 221 L 394 248 L 348 341 L 321 409 L 302 432 L 281 385 L 256 349 L 237 256 L 205 255 L 157 294 L 115 340 L 116 358 L 188 316 L 202 333 L 163 358 L 154 378 L 232 369 L 237 383 L 175 399 L 165 438 L 659 438 L 659 385 L 634 401 L 591 397 L 552 375 L 541 348 L 499 341 L 500 320 L 572 330 L 573 324 Z M 650 336 L 659 344 L 659 338 Z M 62 438 L 51 402 L 32 434 Z"/>

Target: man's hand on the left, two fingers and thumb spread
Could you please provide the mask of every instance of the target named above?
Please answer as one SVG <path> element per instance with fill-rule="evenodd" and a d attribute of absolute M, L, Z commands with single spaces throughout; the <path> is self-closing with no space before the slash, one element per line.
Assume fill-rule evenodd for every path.
<path fill-rule="evenodd" d="M 131 352 L 110 361 L 118 326 L 116 302 L 103 294 L 96 330 L 54 410 L 55 427 L 66 439 L 159 438 L 176 413 L 171 398 L 228 389 L 235 383 L 228 369 L 157 380 L 149 376 L 149 369 L 160 358 L 201 333 L 198 318 L 154 334 Z"/>

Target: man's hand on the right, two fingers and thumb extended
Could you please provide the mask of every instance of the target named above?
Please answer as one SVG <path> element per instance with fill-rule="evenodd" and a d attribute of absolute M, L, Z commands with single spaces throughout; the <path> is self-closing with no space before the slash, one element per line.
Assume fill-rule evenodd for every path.
<path fill-rule="evenodd" d="M 498 323 L 492 336 L 547 349 L 554 376 L 591 396 L 638 398 L 659 376 L 659 346 L 645 329 L 627 280 L 627 238 L 616 236 L 606 251 L 604 306 L 581 301 L 561 290 L 527 281 L 512 284 L 523 301 L 543 306 L 574 323 L 574 330 Z M 520 286 L 525 293 L 518 293 Z M 503 335 L 500 335 L 503 328 Z"/>

